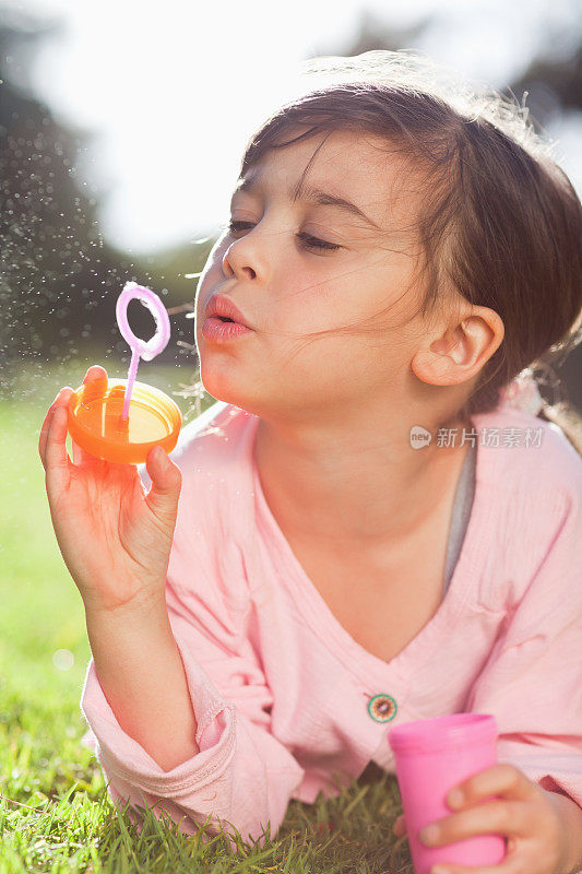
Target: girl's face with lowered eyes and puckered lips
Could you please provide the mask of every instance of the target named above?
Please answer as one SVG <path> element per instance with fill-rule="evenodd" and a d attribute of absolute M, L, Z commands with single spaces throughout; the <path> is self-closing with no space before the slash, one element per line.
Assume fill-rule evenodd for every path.
<path fill-rule="evenodd" d="M 409 363 L 423 338 L 412 318 L 419 299 L 415 177 L 385 141 L 335 131 L 294 199 L 323 140 L 271 150 L 249 170 L 245 190 L 239 180 L 230 228 L 197 291 L 205 390 L 266 420 L 345 420 L 371 411 L 378 398 L 394 409 L 409 399 Z M 355 205 L 325 202 L 331 198 Z M 215 294 L 229 297 L 253 330 L 228 343 L 206 340 L 205 307 Z M 344 326 L 354 330 L 337 332 Z M 317 331 L 330 333 L 309 336 Z"/>

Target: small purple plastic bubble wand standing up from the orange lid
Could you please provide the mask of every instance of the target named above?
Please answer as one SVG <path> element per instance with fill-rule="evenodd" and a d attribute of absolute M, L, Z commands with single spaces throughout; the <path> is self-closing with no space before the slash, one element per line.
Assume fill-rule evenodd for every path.
<path fill-rule="evenodd" d="M 130 300 L 141 300 L 147 307 L 150 312 L 155 319 L 156 332 L 147 341 L 140 340 L 135 336 L 129 327 L 128 321 L 128 304 Z M 121 412 L 121 420 L 126 421 L 129 416 L 129 403 L 131 400 L 131 392 L 133 391 L 133 383 L 138 374 L 140 358 L 144 362 L 151 362 L 156 355 L 163 352 L 169 340 L 170 326 L 169 317 L 166 307 L 159 297 L 150 288 L 143 285 L 138 285 L 136 282 L 127 282 L 123 291 L 117 298 L 116 317 L 121 335 L 129 343 L 131 349 L 131 363 L 128 370 L 128 385 L 126 388 L 126 395 L 123 399 L 123 410 Z"/>

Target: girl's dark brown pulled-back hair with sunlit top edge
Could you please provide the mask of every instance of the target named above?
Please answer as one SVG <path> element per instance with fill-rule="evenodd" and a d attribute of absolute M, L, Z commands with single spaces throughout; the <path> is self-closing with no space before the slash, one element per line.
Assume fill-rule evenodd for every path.
<path fill-rule="evenodd" d="M 321 132 L 385 139 L 426 182 L 416 220 L 426 279 L 420 311 L 435 311 L 452 288 L 503 321 L 504 338 L 459 412 L 495 409 L 524 373 L 561 390 L 551 365 L 582 340 L 582 204 L 554 144 L 528 123 L 528 109 L 408 50 L 316 58 L 304 70 L 328 81 L 266 119 L 247 143 L 240 175 L 269 150 Z M 582 454 L 582 417 L 555 400 L 544 399 L 539 415 Z"/>

